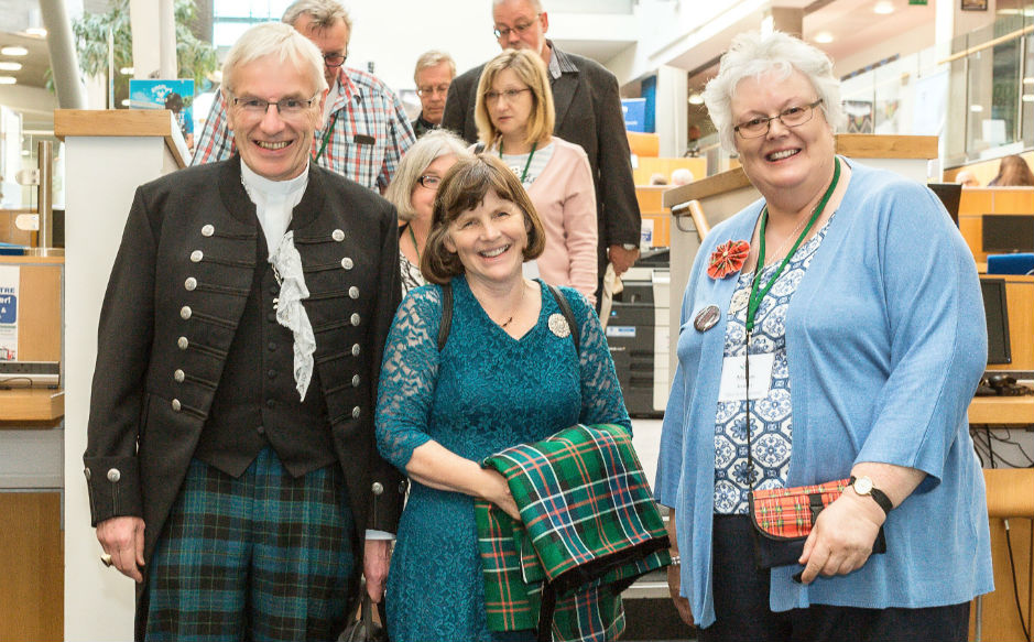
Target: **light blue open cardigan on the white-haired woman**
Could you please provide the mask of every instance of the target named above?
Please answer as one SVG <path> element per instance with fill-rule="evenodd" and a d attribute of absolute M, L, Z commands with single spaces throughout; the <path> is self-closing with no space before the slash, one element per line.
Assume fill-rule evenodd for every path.
<path fill-rule="evenodd" d="M 859 461 L 927 477 L 888 516 L 886 554 L 810 586 L 791 580 L 797 565 L 773 569 L 773 611 L 809 603 L 922 608 L 993 590 L 983 476 L 967 420 L 988 353 L 973 257 L 928 189 L 850 165 L 843 200 L 786 314 L 788 483 L 848 477 Z M 700 627 L 715 621 L 715 412 L 736 285 L 736 275 L 709 278 L 707 259 L 719 243 L 750 240 L 761 207 L 716 226 L 697 254 L 661 436 L 655 493 L 676 510 L 682 594 Z M 721 319 L 697 331 L 693 318 L 711 304 Z"/>

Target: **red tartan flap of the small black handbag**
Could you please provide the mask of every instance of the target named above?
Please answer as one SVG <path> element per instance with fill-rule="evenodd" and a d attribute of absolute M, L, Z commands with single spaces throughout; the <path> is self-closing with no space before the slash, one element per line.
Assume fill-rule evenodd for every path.
<path fill-rule="evenodd" d="M 753 490 L 749 493 L 751 522 L 773 540 L 807 537 L 814 515 L 840 497 L 849 481 Z"/>

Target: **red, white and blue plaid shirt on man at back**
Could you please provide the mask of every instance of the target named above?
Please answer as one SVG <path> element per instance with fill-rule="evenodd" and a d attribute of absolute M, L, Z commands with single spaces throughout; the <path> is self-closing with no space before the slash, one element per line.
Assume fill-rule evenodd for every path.
<path fill-rule="evenodd" d="M 375 76 L 358 69 L 341 67 L 335 87 L 327 96 L 330 111 L 325 123 L 333 130 L 318 163 L 370 189 L 383 192 L 402 155 L 416 140 L 402 101 Z M 316 130 L 312 156 L 318 153 L 326 134 L 326 129 Z M 226 100 L 219 91 L 191 164 L 224 161 L 236 151 L 233 132 L 226 127 Z"/>

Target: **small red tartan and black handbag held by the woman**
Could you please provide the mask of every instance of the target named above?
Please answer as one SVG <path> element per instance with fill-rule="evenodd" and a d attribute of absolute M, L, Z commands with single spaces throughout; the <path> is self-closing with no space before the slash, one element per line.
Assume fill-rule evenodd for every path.
<path fill-rule="evenodd" d="M 849 479 L 838 479 L 813 486 L 752 489 L 747 497 L 758 568 L 797 564 L 818 514 L 840 497 L 849 482 Z M 883 526 L 872 544 L 872 552 L 886 552 Z"/>

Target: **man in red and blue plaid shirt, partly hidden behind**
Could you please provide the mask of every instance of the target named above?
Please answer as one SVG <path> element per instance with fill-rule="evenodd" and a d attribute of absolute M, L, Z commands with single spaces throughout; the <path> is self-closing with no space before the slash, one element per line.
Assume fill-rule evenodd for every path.
<path fill-rule="evenodd" d="M 330 87 L 312 157 L 346 178 L 383 193 L 402 155 L 416 140 L 402 102 L 373 75 L 344 66 L 351 18 L 337 0 L 297 0 L 284 11 L 283 21 L 323 52 Z M 233 132 L 226 123 L 226 100 L 218 93 L 197 139 L 192 164 L 222 161 L 235 152 Z"/>

